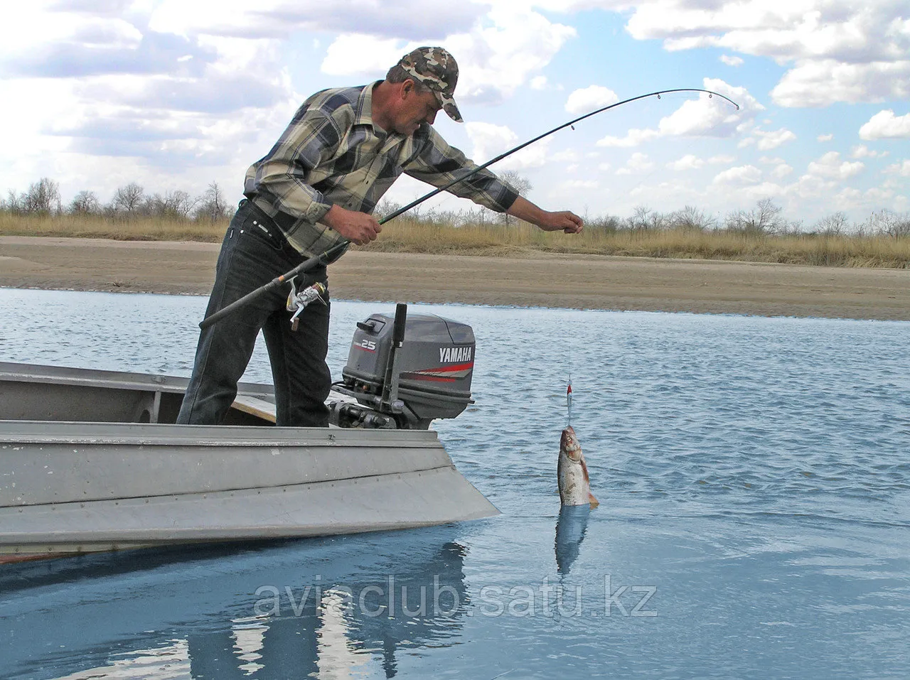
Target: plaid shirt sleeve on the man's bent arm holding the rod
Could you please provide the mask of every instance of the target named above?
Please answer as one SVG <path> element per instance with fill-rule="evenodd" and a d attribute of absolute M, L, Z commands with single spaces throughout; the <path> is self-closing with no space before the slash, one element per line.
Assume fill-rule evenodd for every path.
<path fill-rule="evenodd" d="M 332 203 L 308 184 L 308 175 L 334 154 L 340 139 L 330 116 L 302 106 L 268 155 L 250 166 L 244 194 L 264 199 L 275 211 L 295 219 L 319 222 Z"/>

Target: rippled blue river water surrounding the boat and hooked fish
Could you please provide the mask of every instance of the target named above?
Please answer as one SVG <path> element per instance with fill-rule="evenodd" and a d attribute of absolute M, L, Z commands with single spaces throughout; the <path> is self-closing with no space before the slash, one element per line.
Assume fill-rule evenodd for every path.
<path fill-rule="evenodd" d="M 0 290 L 0 360 L 188 375 L 205 303 Z M 392 308 L 333 303 L 333 375 Z M 910 324 L 410 309 L 474 328 L 477 404 L 434 427 L 501 516 L 5 567 L 0 675 L 910 676 Z"/>

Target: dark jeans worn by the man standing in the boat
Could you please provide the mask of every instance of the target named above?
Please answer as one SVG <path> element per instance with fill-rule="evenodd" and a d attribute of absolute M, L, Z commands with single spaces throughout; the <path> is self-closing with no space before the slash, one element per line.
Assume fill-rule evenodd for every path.
<path fill-rule="evenodd" d="M 206 316 L 268 284 L 303 259 L 267 216 L 242 202 L 221 245 Z M 298 289 L 316 281 L 326 281 L 325 266 L 298 275 Z M 199 334 L 196 363 L 177 423 L 218 425 L 224 420 L 261 328 L 275 382 L 277 425 L 329 425 L 325 405 L 331 386 L 326 365 L 329 307 L 319 302 L 308 305 L 298 317 L 298 330 L 291 331 L 291 313 L 285 307 L 289 291 L 289 285 L 282 285 L 260 295 Z"/>

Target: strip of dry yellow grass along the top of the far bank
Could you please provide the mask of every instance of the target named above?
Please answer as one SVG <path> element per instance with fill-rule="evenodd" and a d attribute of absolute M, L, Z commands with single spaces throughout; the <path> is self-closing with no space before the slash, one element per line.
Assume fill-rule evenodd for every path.
<path fill-rule="evenodd" d="M 132 241 L 217 243 L 216 223 L 161 217 L 11 215 L 0 213 L 0 235 L 69 236 Z M 726 230 L 618 230 L 590 227 L 581 235 L 548 234 L 526 224 L 454 227 L 399 217 L 383 226 L 374 252 L 520 255 L 522 252 L 631 255 L 773 262 L 799 265 L 910 268 L 910 238 L 887 235 L 750 235 Z"/>

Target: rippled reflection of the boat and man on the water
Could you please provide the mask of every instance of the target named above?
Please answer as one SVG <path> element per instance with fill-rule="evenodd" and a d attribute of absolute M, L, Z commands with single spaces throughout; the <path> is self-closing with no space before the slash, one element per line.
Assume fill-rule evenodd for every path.
<path fill-rule="evenodd" d="M 20 579 L 13 609 L 15 599 L 32 608 L 26 601 L 48 590 L 68 590 L 73 604 L 48 613 L 54 625 L 41 640 L 15 640 L 6 668 L 13 677 L 67 680 L 394 677 L 400 648 L 451 645 L 469 603 L 466 549 L 440 541 L 440 532 L 412 533 L 420 540 L 403 533 L 393 545 L 356 545 L 353 537 L 341 550 L 301 541 L 151 574 L 121 563 L 119 574 L 101 570 L 106 583 L 56 583 L 51 567 L 28 577 L 30 587 Z M 48 659 L 50 635 L 56 659 Z"/>

